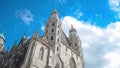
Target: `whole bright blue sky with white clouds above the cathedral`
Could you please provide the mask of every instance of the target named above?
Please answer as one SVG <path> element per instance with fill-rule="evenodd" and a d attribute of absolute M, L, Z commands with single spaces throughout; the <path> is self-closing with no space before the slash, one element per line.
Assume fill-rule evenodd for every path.
<path fill-rule="evenodd" d="M 10 50 L 24 33 L 43 35 L 46 21 L 57 9 L 62 28 L 70 25 L 82 41 L 85 68 L 120 68 L 120 0 L 0 0 L 0 33 Z"/>

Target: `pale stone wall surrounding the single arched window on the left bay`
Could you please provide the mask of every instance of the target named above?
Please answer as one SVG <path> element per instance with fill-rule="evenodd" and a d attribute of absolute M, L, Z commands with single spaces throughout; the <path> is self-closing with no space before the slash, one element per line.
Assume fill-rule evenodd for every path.
<path fill-rule="evenodd" d="M 43 59 L 39 57 L 40 48 L 44 49 Z M 48 54 L 47 52 L 48 48 L 40 42 L 36 41 L 31 68 L 45 68 Z"/>

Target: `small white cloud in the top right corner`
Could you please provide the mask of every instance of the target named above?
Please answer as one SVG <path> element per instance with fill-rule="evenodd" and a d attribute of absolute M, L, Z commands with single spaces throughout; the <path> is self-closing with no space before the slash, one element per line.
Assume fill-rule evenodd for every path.
<path fill-rule="evenodd" d="M 110 9 L 117 13 L 117 18 L 120 18 L 120 0 L 108 0 Z"/>

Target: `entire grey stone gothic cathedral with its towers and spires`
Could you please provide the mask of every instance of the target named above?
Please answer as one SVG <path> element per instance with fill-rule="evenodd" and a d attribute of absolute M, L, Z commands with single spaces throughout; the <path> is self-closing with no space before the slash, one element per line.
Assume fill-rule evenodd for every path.
<path fill-rule="evenodd" d="M 71 25 L 69 37 L 62 30 L 57 10 L 46 21 L 43 36 L 24 34 L 10 51 L 4 49 L 5 37 L 0 34 L 0 68 L 85 68 L 81 40 Z"/>

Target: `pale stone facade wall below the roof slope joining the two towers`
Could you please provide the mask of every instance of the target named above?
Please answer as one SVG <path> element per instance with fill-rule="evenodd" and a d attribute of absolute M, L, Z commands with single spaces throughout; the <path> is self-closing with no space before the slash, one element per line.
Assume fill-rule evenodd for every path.
<path fill-rule="evenodd" d="M 72 58 L 75 61 L 76 68 L 83 68 L 82 59 L 74 51 L 72 51 L 70 48 L 66 47 L 62 43 L 60 45 L 59 50 L 60 50 L 59 58 L 58 58 L 57 54 L 53 53 L 52 50 L 50 52 L 50 63 L 49 63 L 49 65 L 52 68 L 55 68 L 55 65 L 57 63 L 62 64 L 64 68 L 70 68 L 70 60 Z M 63 68 L 63 67 L 61 66 L 60 68 Z"/>

